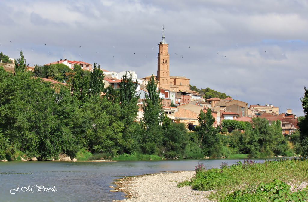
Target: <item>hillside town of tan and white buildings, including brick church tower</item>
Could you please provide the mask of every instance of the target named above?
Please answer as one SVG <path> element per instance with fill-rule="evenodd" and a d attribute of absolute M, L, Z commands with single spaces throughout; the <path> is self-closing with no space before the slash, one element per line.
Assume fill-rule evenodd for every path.
<path fill-rule="evenodd" d="M 292 113 L 292 109 L 284 109 L 286 113 L 280 113 L 279 107 L 273 104 L 248 104 L 245 101 L 235 100 L 232 97 L 220 99 L 212 97 L 205 99 L 199 92 L 190 89 L 190 79 L 182 76 L 170 76 L 170 57 L 168 52 L 168 43 L 165 40 L 164 29 L 162 40 L 158 44 L 157 54 L 157 75 L 155 79 L 158 82 L 157 91 L 160 93 L 162 105 L 165 114 L 173 121 L 184 123 L 186 125 L 198 125 L 198 116 L 201 110 L 206 111 L 211 109 L 213 117 L 215 117 L 214 127 L 221 125 L 225 119 L 251 122 L 253 117 L 266 118 L 271 122 L 281 121 L 282 133 L 291 134 L 298 129 L 298 117 Z M 14 61 L 14 59 L 12 59 Z M 74 69 L 74 65 L 80 65 L 83 70 L 92 71 L 92 64 L 60 59 L 59 61 L 50 62 L 50 64 L 65 64 L 69 68 Z M 172 67 L 171 67 L 172 69 Z M 27 66 L 27 71 L 34 71 L 34 67 Z M 139 96 L 138 104 L 139 111 L 136 120 L 143 119 L 142 102 L 145 99 L 145 94 L 148 94 L 146 85 L 151 75 L 139 78 L 135 71 L 105 70 L 104 73 L 105 87 L 111 85 L 113 89 L 120 88 L 120 82 L 124 75 L 132 76 L 132 80 L 137 82 L 136 95 Z M 179 72 L 176 72 L 179 73 Z M 171 72 L 173 75 L 173 72 Z M 54 84 L 60 83 L 51 79 L 44 78 L 45 81 L 50 81 Z M 264 101 L 267 102 L 267 101 Z"/>

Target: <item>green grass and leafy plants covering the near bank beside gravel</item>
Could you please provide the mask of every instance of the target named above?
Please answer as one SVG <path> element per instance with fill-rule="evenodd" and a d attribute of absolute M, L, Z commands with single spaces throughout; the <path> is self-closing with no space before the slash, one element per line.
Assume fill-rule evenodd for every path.
<path fill-rule="evenodd" d="M 221 168 L 206 170 L 204 165 L 196 166 L 196 175 L 191 180 L 178 183 L 179 187 L 191 185 L 199 191 L 212 192 L 210 200 L 229 201 L 307 201 L 308 190 L 296 191 L 286 183 L 300 184 L 308 181 L 308 161 L 301 159 L 280 159 L 257 163 L 254 160 L 239 161 Z"/>

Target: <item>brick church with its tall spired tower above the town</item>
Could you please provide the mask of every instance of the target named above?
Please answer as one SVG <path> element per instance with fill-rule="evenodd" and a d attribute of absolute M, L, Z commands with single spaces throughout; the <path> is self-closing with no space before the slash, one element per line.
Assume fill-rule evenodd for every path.
<path fill-rule="evenodd" d="M 185 76 L 170 76 L 169 71 L 169 44 L 165 40 L 163 29 L 163 40 L 158 44 L 158 57 L 157 57 L 157 76 L 158 87 L 164 88 L 170 91 L 185 91 L 189 90 L 189 80 Z M 147 76 L 143 79 L 149 80 L 151 76 Z"/>

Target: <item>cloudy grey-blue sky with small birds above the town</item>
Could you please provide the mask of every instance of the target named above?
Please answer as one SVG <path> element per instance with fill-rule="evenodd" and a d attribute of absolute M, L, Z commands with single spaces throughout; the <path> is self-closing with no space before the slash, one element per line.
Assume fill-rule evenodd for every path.
<path fill-rule="evenodd" d="M 22 50 L 30 66 L 67 58 L 156 75 L 164 26 L 170 76 L 303 115 L 306 0 L 15 0 L 0 9 L 0 51 Z"/>

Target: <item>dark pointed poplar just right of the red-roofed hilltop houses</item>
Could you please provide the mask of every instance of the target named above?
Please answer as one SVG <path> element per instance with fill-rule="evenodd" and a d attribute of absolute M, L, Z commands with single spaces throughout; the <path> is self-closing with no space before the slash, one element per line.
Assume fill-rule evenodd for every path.
<path fill-rule="evenodd" d="M 89 95 L 100 95 L 101 92 L 104 91 L 105 84 L 103 83 L 104 74 L 103 71 L 100 70 L 100 64 L 97 65 L 94 63 L 93 71 L 90 73 L 90 81 L 89 81 Z"/>

